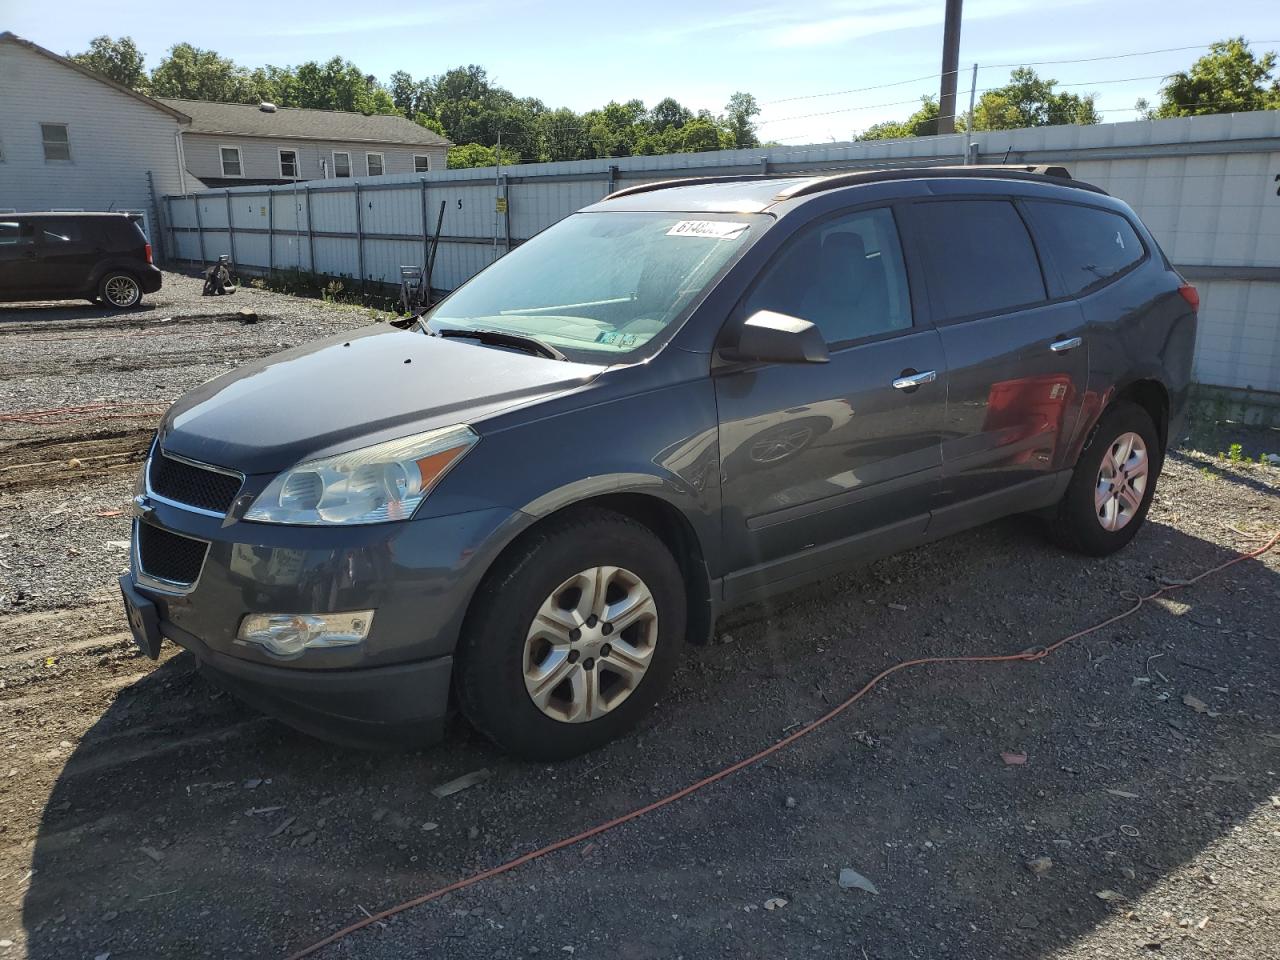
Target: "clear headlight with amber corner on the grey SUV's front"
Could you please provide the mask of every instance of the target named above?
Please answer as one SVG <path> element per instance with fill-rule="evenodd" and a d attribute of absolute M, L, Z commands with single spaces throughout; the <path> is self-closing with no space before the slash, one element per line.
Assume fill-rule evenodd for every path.
<path fill-rule="evenodd" d="M 470 426 L 447 426 L 298 463 L 257 495 L 244 520 L 262 524 L 406 520 L 477 439 Z"/>

